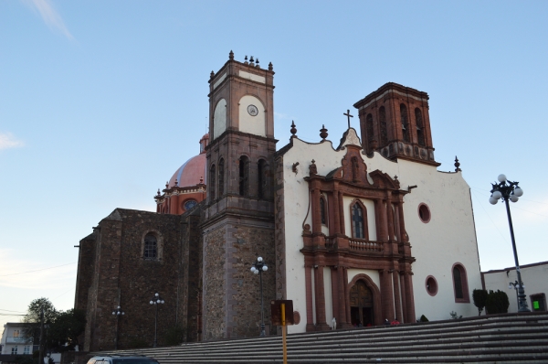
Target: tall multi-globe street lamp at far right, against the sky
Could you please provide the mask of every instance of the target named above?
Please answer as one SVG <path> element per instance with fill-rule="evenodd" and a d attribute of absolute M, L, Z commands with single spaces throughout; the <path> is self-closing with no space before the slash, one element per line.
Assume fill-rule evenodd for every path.
<path fill-rule="evenodd" d="M 527 296 L 523 289 L 522 273 L 520 272 L 520 262 L 518 261 L 518 252 L 516 250 L 516 241 L 513 235 L 513 226 L 511 224 L 510 203 L 518 202 L 518 199 L 522 197 L 522 187 L 518 186 L 519 182 L 511 182 L 506 179 L 506 176 L 499 175 L 499 183 L 491 183 L 492 189 L 490 190 L 491 196 L 489 202 L 491 205 L 495 205 L 502 198 L 506 202 L 506 214 L 508 215 L 508 225 L 510 226 L 511 247 L 514 253 L 514 261 L 516 263 L 516 273 L 518 274 L 518 312 L 530 312 L 527 305 Z"/>

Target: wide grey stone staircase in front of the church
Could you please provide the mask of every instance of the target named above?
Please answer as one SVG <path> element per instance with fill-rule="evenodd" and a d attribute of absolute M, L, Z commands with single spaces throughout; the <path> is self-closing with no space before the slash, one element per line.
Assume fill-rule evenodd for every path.
<path fill-rule="evenodd" d="M 169 363 L 280 363 L 281 337 L 92 354 L 142 354 Z M 548 313 L 288 335 L 289 363 L 548 363 Z"/>

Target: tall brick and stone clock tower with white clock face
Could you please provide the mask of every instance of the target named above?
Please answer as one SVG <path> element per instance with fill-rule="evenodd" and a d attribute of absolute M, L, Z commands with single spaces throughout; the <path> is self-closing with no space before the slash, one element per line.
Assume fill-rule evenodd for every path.
<path fill-rule="evenodd" d="M 271 64 L 263 70 L 258 59 L 239 62 L 232 51 L 211 72 L 202 224 L 204 339 L 258 336 L 259 282 L 249 270 L 258 256 L 271 268 L 263 274 L 265 302 L 274 298 L 273 77 Z M 268 323 L 269 309 L 264 314 Z"/>

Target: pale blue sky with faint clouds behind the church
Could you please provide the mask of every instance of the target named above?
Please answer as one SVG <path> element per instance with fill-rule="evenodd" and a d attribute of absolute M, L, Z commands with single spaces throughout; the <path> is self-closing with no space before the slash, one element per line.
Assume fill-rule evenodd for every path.
<path fill-rule="evenodd" d="M 513 264 L 488 202 L 500 173 L 525 191 L 522 264 L 548 261 L 547 16 L 546 1 L 0 2 L 0 325 L 41 296 L 71 308 L 73 246 L 112 209 L 155 209 L 198 153 L 231 49 L 274 64 L 279 147 L 291 120 L 338 140 L 342 112 L 387 81 L 427 91 L 439 169 L 458 155 L 472 190 L 481 269 Z"/>

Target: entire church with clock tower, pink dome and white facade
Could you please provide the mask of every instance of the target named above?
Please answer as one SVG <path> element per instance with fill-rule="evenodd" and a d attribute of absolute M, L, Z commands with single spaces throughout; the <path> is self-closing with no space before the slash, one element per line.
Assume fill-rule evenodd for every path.
<path fill-rule="evenodd" d="M 155 310 L 158 345 L 174 327 L 184 341 L 257 337 L 259 256 L 267 335 L 273 299 L 293 301 L 290 333 L 477 314 L 469 186 L 458 162 L 437 170 L 426 92 L 386 83 L 353 104 L 359 131 L 346 112 L 336 143 L 293 123 L 278 145 L 271 63 L 230 52 L 209 88 L 209 134 L 156 212 L 115 209 L 79 243 L 85 350 L 151 346 Z"/>

